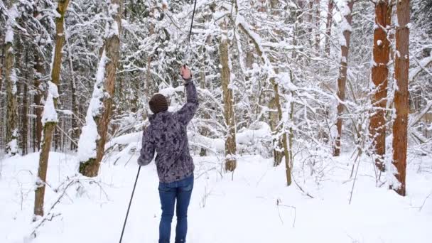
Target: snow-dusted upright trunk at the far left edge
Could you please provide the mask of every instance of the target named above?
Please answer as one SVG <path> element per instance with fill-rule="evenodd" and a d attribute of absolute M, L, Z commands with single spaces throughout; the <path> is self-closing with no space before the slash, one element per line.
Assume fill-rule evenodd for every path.
<path fill-rule="evenodd" d="M 15 1 L 9 3 L 9 19 L 6 22 L 5 36 L 5 82 L 6 82 L 6 154 L 14 156 L 18 153 L 18 109 L 17 109 L 17 88 L 16 70 L 14 68 L 15 50 L 13 49 L 13 26 L 18 17 L 18 9 Z"/>

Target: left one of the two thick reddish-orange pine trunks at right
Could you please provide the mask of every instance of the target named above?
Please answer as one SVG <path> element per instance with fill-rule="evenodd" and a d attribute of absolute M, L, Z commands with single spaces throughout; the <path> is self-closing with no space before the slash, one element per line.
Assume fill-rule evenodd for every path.
<path fill-rule="evenodd" d="M 374 30 L 374 65 L 372 66 L 372 82 L 375 90 L 372 97 L 374 107 L 369 123 L 369 132 L 372 136 L 372 146 L 377 155 L 375 164 L 379 170 L 384 171 L 384 154 L 386 153 L 386 120 L 385 112 L 387 104 L 387 82 L 389 75 L 389 41 L 387 39 L 387 0 L 378 1 L 375 5 Z"/>

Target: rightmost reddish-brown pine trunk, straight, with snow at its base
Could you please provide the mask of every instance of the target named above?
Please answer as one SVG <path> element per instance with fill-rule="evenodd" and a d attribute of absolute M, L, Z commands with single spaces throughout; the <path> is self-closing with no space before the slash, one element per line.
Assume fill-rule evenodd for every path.
<path fill-rule="evenodd" d="M 396 179 L 400 185 L 392 185 L 396 193 L 405 195 L 406 146 L 409 113 L 409 0 L 399 0 L 396 7 L 396 86 L 394 107 L 396 119 L 393 124 L 393 164 L 397 169 Z"/>

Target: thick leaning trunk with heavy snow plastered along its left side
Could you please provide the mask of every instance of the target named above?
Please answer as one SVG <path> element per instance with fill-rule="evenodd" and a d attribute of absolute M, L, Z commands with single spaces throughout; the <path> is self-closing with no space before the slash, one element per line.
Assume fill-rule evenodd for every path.
<path fill-rule="evenodd" d="M 108 125 L 112 114 L 114 83 L 119 62 L 122 0 L 111 0 L 109 4 L 105 43 L 97 69 L 96 83 L 90 106 L 78 142 L 80 173 L 94 177 L 104 156 Z"/>

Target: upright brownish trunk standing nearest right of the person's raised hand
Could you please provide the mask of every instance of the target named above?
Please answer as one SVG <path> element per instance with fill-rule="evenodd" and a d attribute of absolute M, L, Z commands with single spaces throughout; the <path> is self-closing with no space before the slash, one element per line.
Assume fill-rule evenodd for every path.
<path fill-rule="evenodd" d="M 234 171 L 237 166 L 236 155 L 236 141 L 235 141 L 235 119 L 234 109 L 232 107 L 232 89 L 230 87 L 231 82 L 231 70 L 229 70 L 229 53 L 228 53 L 228 40 L 222 38 L 220 41 L 220 63 L 222 65 L 222 93 L 224 99 L 224 114 L 225 123 L 227 124 L 227 136 L 225 139 L 225 170 Z"/>

